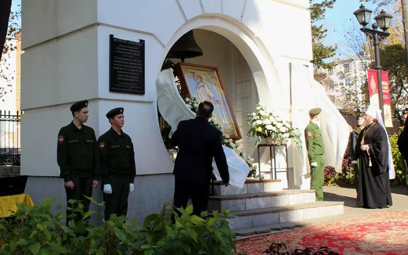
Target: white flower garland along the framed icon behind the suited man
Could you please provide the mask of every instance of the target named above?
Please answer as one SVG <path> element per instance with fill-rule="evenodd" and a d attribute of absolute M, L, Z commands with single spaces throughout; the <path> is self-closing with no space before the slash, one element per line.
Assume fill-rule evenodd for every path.
<path fill-rule="evenodd" d="M 190 97 L 190 98 L 186 98 L 185 101 L 186 101 L 186 104 L 191 109 L 191 111 L 193 111 L 194 113 L 197 112 L 199 102 L 197 101 L 195 95 L 192 95 L 192 97 Z M 214 127 L 218 128 L 220 131 L 222 131 L 222 128 L 218 124 L 218 122 L 216 121 L 216 116 L 214 114 L 211 117 L 211 119 L 209 119 L 209 122 Z M 236 152 L 238 155 L 240 155 L 245 160 L 246 164 L 248 164 L 248 166 L 249 166 L 248 177 L 255 177 L 256 176 L 257 165 L 254 164 L 254 159 L 252 157 L 250 157 L 248 154 L 246 154 L 244 152 L 244 150 L 242 150 L 240 148 L 239 145 L 234 144 L 234 141 L 229 137 L 229 135 L 222 133 L 222 145 L 233 149 L 234 152 Z"/>

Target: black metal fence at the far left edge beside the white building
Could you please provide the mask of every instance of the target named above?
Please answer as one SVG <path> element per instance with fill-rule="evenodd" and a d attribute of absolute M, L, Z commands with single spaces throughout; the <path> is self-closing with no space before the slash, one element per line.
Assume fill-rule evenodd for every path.
<path fill-rule="evenodd" d="M 22 113 L 17 111 L 12 115 L 10 111 L 0 110 L 0 165 L 20 165 L 20 121 Z"/>

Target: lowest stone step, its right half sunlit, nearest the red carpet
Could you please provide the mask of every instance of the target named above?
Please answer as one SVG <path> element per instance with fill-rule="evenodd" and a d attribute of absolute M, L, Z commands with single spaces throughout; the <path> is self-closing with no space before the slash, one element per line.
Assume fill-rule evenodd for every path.
<path fill-rule="evenodd" d="M 261 227 L 343 214 L 343 202 L 314 202 L 231 212 L 231 229 Z"/>

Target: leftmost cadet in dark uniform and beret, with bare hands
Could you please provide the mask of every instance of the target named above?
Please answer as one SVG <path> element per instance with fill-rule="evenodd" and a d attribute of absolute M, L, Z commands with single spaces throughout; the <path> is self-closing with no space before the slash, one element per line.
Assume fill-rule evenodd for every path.
<path fill-rule="evenodd" d="M 88 101 L 74 103 L 70 110 L 74 117 L 71 124 L 59 130 L 57 143 L 57 162 L 61 171 L 60 178 L 64 179 L 67 206 L 69 200 L 80 200 L 84 211 L 89 209 L 92 188 L 98 186 L 100 179 L 100 158 L 95 131 L 83 125 L 88 120 Z M 67 225 L 71 217 L 71 210 L 67 210 Z M 79 220 L 74 215 L 74 220 Z"/>

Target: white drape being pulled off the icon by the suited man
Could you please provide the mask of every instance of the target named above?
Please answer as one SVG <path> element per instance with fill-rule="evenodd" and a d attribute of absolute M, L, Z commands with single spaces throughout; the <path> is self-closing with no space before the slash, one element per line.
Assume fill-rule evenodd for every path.
<path fill-rule="evenodd" d="M 169 138 L 173 135 L 177 126 L 182 120 L 195 118 L 195 114 L 187 106 L 181 98 L 173 76 L 173 70 L 163 70 L 156 80 L 157 89 L 157 104 L 160 114 L 163 119 L 170 125 L 171 131 Z M 231 148 L 223 146 L 225 156 L 228 163 L 228 171 L 230 176 L 229 184 L 243 188 L 246 177 L 249 173 L 249 167 L 245 160 L 235 153 Z M 213 159 L 214 176 L 221 179 L 217 165 Z M 191 171 L 194 171 L 194 166 L 191 166 Z"/>

